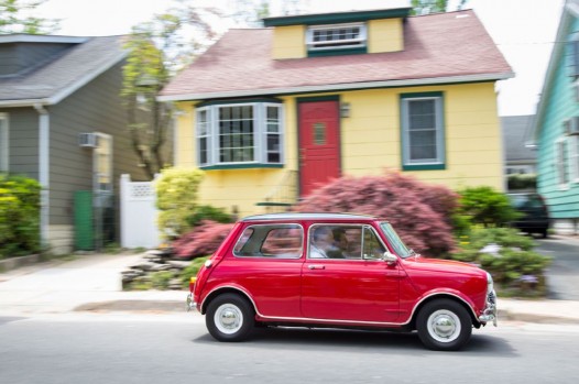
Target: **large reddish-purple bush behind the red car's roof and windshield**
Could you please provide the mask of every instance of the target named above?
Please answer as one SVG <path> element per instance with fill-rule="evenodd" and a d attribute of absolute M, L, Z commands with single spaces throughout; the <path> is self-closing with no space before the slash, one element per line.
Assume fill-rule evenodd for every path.
<path fill-rule="evenodd" d="M 455 248 L 451 216 L 457 195 L 401 173 L 346 176 L 320 187 L 295 209 L 306 212 L 373 215 L 390 221 L 418 253 L 439 256 Z"/>

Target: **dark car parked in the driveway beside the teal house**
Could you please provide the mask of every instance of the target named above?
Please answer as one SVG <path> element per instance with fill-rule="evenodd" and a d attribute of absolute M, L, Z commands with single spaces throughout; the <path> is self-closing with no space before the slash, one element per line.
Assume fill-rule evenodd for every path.
<path fill-rule="evenodd" d="M 509 194 L 511 204 L 521 213 L 512 226 L 528 234 L 539 233 L 547 238 L 549 230 L 549 212 L 545 199 L 539 194 Z"/>

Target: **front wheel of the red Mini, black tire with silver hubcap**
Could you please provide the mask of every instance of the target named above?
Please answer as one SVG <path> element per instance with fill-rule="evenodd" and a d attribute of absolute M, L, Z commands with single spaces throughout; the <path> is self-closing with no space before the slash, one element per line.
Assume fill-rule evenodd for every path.
<path fill-rule="evenodd" d="M 472 319 L 462 305 L 451 299 L 427 303 L 418 312 L 416 329 L 423 344 L 435 351 L 456 351 L 472 333 Z"/>

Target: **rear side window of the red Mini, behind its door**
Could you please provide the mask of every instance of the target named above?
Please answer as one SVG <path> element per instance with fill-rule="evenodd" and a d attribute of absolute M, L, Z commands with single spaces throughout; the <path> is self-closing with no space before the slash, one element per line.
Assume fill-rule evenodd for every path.
<path fill-rule="evenodd" d="M 298 224 L 262 224 L 245 228 L 233 254 L 239 257 L 299 259 L 304 229 Z"/>

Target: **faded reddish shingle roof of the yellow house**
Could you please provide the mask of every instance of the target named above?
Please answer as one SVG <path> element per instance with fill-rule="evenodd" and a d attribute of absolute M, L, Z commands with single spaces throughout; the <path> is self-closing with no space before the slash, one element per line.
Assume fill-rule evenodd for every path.
<path fill-rule="evenodd" d="M 272 29 L 231 30 L 161 92 L 161 101 L 493 81 L 513 77 L 473 11 L 405 20 L 404 51 L 273 59 Z"/>

